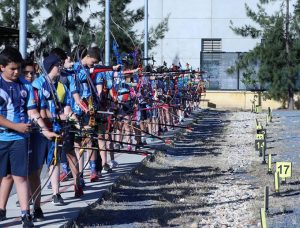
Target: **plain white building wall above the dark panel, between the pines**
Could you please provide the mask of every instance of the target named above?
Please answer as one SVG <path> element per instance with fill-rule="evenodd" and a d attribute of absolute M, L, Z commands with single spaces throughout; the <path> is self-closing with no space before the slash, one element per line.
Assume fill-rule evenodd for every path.
<path fill-rule="evenodd" d="M 260 39 L 237 36 L 229 28 L 251 24 L 246 16 L 245 3 L 256 9 L 258 0 L 149 0 L 149 26 L 156 26 L 170 14 L 169 31 L 157 47 L 150 51 L 156 64 L 166 61 L 171 65 L 176 57 L 181 65 L 200 67 L 201 40 L 221 38 L 222 51 L 243 52 L 252 49 Z M 133 0 L 132 7 L 144 5 L 144 0 Z M 274 8 L 272 5 L 269 10 Z M 141 23 L 138 28 L 143 30 Z"/>

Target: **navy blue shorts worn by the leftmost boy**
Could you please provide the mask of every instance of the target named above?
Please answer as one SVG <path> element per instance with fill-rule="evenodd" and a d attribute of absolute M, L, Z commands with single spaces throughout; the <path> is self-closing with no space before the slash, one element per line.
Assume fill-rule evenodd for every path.
<path fill-rule="evenodd" d="M 0 141 L 0 177 L 28 176 L 28 139 Z"/>

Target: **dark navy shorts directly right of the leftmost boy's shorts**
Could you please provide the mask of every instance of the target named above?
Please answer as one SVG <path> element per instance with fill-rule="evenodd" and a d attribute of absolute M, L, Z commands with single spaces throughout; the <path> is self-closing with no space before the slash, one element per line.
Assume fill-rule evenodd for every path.
<path fill-rule="evenodd" d="M 40 132 L 30 134 L 29 173 L 39 170 L 46 161 L 50 141 Z"/>

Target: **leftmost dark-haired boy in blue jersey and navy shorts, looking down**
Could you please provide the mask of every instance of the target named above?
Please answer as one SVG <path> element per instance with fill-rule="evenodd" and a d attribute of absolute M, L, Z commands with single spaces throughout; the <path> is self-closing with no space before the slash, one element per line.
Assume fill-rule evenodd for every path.
<path fill-rule="evenodd" d="M 0 53 L 0 220 L 6 218 L 6 198 L 11 188 L 6 184 L 6 178 L 11 174 L 20 202 L 23 227 L 32 227 L 27 180 L 29 117 L 38 123 L 48 139 L 58 135 L 48 130 L 37 112 L 31 85 L 19 78 L 22 61 L 15 48 L 7 47 Z"/>

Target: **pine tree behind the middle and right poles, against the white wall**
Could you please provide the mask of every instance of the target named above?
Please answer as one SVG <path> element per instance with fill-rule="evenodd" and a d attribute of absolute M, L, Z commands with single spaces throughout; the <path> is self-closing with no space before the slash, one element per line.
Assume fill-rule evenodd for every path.
<path fill-rule="evenodd" d="M 136 51 L 141 55 L 143 49 L 143 36 L 138 35 L 138 31 L 134 30 L 136 23 L 144 20 L 144 8 L 131 10 L 128 5 L 132 0 L 114 0 L 110 1 L 110 34 L 111 39 L 116 41 L 119 49 L 124 53 L 132 53 Z M 104 24 L 105 24 L 105 0 L 99 0 L 103 11 L 93 15 L 93 18 L 100 20 L 100 26 L 96 28 L 96 43 L 99 46 L 104 45 Z M 163 39 L 168 31 L 168 19 L 164 18 L 156 27 L 149 29 L 148 48 L 151 49 L 157 45 L 159 39 Z"/>

